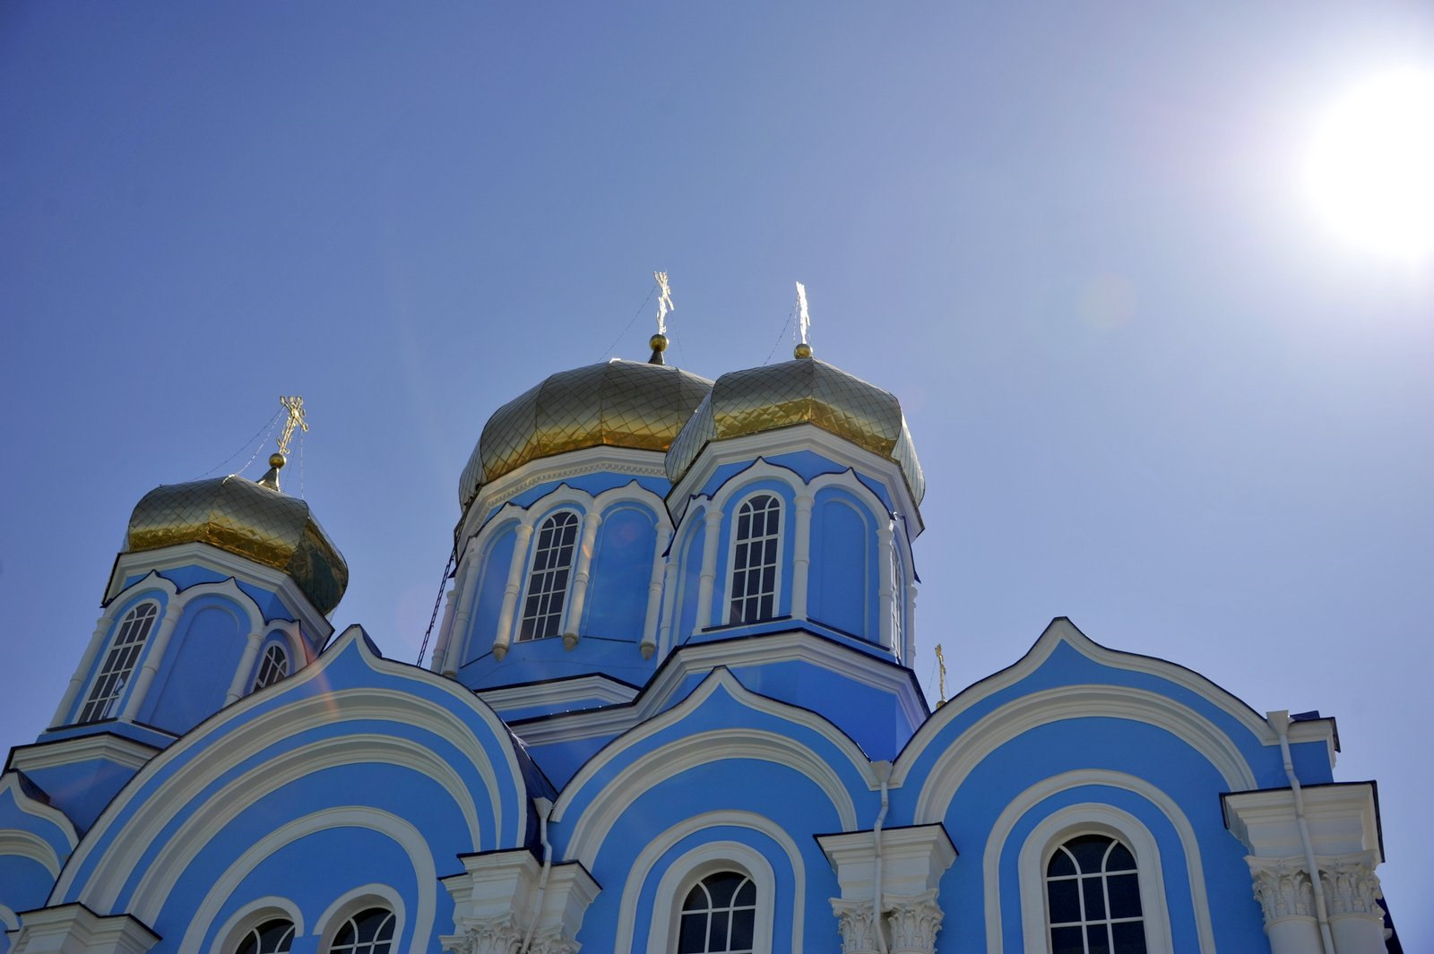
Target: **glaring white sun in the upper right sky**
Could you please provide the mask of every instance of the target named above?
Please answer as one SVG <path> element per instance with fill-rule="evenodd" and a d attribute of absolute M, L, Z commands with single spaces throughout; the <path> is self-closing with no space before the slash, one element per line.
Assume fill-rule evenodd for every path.
<path fill-rule="evenodd" d="M 1341 239 L 1434 256 L 1434 72 L 1374 76 L 1336 100 L 1316 129 L 1306 185 Z"/>

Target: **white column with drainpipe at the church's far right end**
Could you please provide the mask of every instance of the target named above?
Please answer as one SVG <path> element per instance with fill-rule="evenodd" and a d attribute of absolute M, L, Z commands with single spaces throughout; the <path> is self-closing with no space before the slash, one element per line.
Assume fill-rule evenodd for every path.
<path fill-rule="evenodd" d="M 1302 795 L 1302 818 L 1288 788 L 1223 798 L 1226 827 L 1250 849 L 1245 861 L 1272 954 L 1325 951 L 1324 927 L 1339 954 L 1384 954 L 1384 912 L 1375 904 L 1381 855 L 1374 785 L 1319 785 Z M 1319 924 L 1301 825 L 1314 849 L 1326 925 Z"/>

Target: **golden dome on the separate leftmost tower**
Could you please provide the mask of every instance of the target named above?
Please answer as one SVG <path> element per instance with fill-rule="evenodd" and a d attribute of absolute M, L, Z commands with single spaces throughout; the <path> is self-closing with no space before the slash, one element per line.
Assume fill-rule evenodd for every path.
<path fill-rule="evenodd" d="M 141 498 L 129 517 L 126 549 L 179 543 L 208 543 L 281 570 L 326 616 L 348 586 L 348 564 L 308 504 L 238 474 L 162 484 Z"/>

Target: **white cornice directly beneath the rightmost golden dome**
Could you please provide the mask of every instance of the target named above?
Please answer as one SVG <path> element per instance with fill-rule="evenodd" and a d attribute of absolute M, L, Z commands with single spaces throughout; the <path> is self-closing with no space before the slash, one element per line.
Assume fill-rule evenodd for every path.
<path fill-rule="evenodd" d="M 816 451 L 842 468 L 859 471 L 883 484 L 892 496 L 896 511 L 915 517 L 915 526 L 912 527 L 915 533 L 911 536 L 916 537 L 921 534 L 923 529 L 921 509 L 912 498 L 911 490 L 906 487 L 906 477 L 896 461 L 858 447 L 845 437 L 837 437 L 815 424 L 796 424 L 776 431 L 763 431 L 761 434 L 723 437 L 708 441 L 697 454 L 693 466 L 683 474 L 683 478 L 667 494 L 673 520 L 675 523 L 683 521 L 683 514 L 687 511 L 690 503 L 701 498 L 701 488 L 718 468 L 759 457 L 766 460 L 803 450 Z"/>

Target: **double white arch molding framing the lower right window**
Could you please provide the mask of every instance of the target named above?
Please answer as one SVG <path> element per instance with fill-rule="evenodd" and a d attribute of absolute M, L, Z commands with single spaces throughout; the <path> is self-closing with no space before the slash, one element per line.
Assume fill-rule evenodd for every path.
<path fill-rule="evenodd" d="M 1210 921 L 1210 905 L 1205 891 L 1205 867 L 1200 862 L 1200 844 L 1195 827 L 1180 806 L 1162 789 L 1141 778 L 1124 772 L 1083 769 L 1063 772 L 1043 779 L 1017 795 L 997 818 L 987 837 L 981 858 L 981 874 L 987 884 L 985 892 L 985 935 L 987 954 L 1004 954 L 1001 937 L 1001 857 L 1017 822 L 1047 798 L 1074 788 L 1103 785 L 1133 792 L 1153 805 L 1174 828 L 1184 855 L 1186 875 L 1190 881 L 1190 907 L 1195 910 L 1196 935 L 1200 954 L 1216 954 L 1215 927 Z M 1048 954 L 1045 921 L 1045 859 L 1048 848 L 1063 834 L 1077 834 L 1088 828 L 1119 834 L 1127 841 L 1136 855 L 1136 869 L 1140 875 L 1140 900 L 1144 905 L 1146 940 L 1150 954 L 1172 954 L 1174 941 L 1170 928 L 1166 882 L 1160 865 L 1160 848 L 1150 829 L 1134 815 L 1111 805 L 1083 802 L 1068 805 L 1045 816 L 1021 844 L 1017 869 L 1021 891 L 1021 931 L 1025 954 Z"/>

